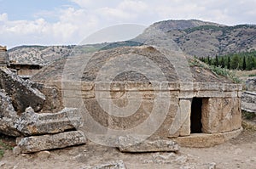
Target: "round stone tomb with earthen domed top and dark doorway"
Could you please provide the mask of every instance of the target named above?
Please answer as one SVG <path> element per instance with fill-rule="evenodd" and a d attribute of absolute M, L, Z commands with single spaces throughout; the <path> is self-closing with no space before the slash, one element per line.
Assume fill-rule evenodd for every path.
<path fill-rule="evenodd" d="M 151 82 L 147 76 L 132 71 L 119 71 L 113 79 L 99 80 L 102 77 L 98 76 L 114 74 L 117 65 L 129 67 L 123 62 L 130 59 L 132 54 L 137 56 L 132 62 L 134 67 L 143 64 L 139 56 L 147 57 L 160 67 L 165 81 Z M 63 60 L 55 64 L 57 67 L 50 65 L 43 68 L 32 80 L 61 90 L 65 106 L 82 109 L 84 127 L 93 126 L 92 121 L 96 122 L 103 128 L 96 126 L 98 128 L 92 129 L 99 139 L 116 147 L 120 147 L 116 142 L 119 139 L 116 135 L 119 134 L 144 134 L 148 135 L 150 142 L 169 139 L 192 147 L 221 144 L 236 137 L 241 132 L 241 85 L 224 76 L 217 76 L 203 66 L 194 65 L 193 59 L 189 59 L 192 64 L 187 68 L 182 64 L 172 65 L 163 54 L 179 57 L 177 53 L 148 46 L 114 48 L 90 56 L 90 63 L 86 63 L 86 67 L 83 66 L 86 55 L 66 63 L 64 78 L 67 79 L 62 81 L 59 77 L 63 70 L 57 67 L 63 69 Z M 119 57 L 122 59 L 118 60 Z M 114 59 L 117 60 L 109 63 Z M 175 61 L 175 58 L 172 59 Z M 101 71 L 105 64 L 108 64 L 108 69 Z M 177 72 L 178 66 L 182 70 L 189 69 L 192 76 L 189 81 L 186 75 Z M 81 76 L 75 76 L 79 72 L 82 72 Z M 154 67 L 148 69 L 148 76 L 158 76 Z M 155 130 L 151 132 L 154 126 Z M 122 132 L 116 134 L 115 131 Z M 109 133 L 113 135 L 109 136 Z M 143 151 L 143 144 L 137 149 Z"/>

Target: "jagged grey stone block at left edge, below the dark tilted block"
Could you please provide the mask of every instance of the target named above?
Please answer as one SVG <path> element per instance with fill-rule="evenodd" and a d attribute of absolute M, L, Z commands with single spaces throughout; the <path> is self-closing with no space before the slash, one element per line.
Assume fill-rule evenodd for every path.
<path fill-rule="evenodd" d="M 3 90 L 0 90 L 0 132 L 9 136 L 20 136 L 20 132 L 15 128 L 17 120 L 18 115 L 11 99 Z"/>

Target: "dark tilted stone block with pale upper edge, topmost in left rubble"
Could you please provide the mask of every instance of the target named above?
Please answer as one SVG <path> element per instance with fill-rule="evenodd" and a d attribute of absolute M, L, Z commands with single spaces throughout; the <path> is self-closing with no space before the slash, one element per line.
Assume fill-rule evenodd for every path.
<path fill-rule="evenodd" d="M 44 94 L 40 93 L 38 89 L 32 88 L 31 84 L 8 68 L 0 67 L 0 88 L 8 93 L 18 113 L 24 112 L 29 106 L 38 112 L 44 106 Z"/>

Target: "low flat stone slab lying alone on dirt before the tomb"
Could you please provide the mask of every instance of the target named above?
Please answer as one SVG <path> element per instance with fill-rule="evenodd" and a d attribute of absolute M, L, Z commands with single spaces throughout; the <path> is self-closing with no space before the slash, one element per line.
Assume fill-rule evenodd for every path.
<path fill-rule="evenodd" d="M 179 145 L 172 140 L 144 140 L 140 142 L 135 137 L 119 137 L 119 150 L 121 152 L 177 152 Z"/>

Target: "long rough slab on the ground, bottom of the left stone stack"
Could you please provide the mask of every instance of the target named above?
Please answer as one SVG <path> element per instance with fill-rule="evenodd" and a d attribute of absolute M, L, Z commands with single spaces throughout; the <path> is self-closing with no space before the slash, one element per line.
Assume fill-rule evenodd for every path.
<path fill-rule="evenodd" d="M 46 149 L 60 149 L 68 146 L 85 144 L 84 132 L 61 132 L 51 135 L 31 136 L 27 138 L 17 138 L 17 146 L 14 153 L 33 153 Z"/>

